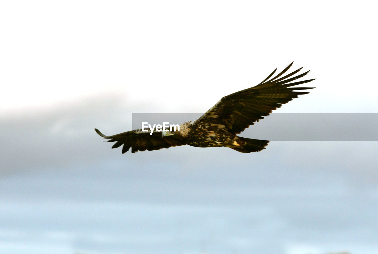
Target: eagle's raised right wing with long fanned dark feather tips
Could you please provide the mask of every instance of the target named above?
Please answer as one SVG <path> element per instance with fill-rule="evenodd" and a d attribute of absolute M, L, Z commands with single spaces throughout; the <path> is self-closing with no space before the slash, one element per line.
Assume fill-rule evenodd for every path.
<path fill-rule="evenodd" d="M 308 92 L 299 92 L 294 90 L 312 89 L 314 87 L 292 87 L 294 85 L 304 84 L 314 79 L 293 82 L 300 77 L 305 76 L 309 71 L 292 77 L 294 74 L 302 70 L 299 68 L 286 76 L 282 76 L 293 62 L 281 71 L 277 76 L 268 80 L 276 72 L 274 70 L 266 79 L 255 87 L 230 94 L 223 97 L 214 107 L 210 108 L 203 116 L 198 118 L 193 125 L 221 124 L 225 125 L 224 129 L 229 132 L 238 134 L 264 116 L 268 116 L 272 110 L 279 108 L 282 104 L 298 98 L 299 94 L 307 94 Z"/>

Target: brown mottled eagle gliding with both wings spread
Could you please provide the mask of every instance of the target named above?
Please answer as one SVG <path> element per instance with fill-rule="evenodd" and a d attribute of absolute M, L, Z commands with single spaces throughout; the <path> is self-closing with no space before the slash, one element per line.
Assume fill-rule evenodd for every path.
<path fill-rule="evenodd" d="M 307 75 L 310 71 L 294 76 L 302 70 L 299 68 L 284 75 L 293 65 L 291 62 L 279 74 L 273 76 L 274 70 L 260 84 L 236 93 L 229 94 L 217 102 L 212 108 L 195 121 L 184 122 L 175 131 L 153 130 L 142 132 L 142 129 L 123 132 L 112 136 L 105 136 L 95 129 L 102 138 L 110 139 L 108 142 L 116 142 L 112 148 L 122 147 L 122 153 L 129 151 L 152 151 L 171 146 L 194 147 L 230 147 L 238 152 L 259 152 L 268 145 L 268 140 L 243 138 L 237 136 L 240 132 L 268 116 L 272 110 L 282 104 L 298 98 L 300 94 L 308 92 L 314 87 L 293 87 L 305 84 L 314 79 L 292 82 Z M 284 75 L 284 76 L 283 76 Z M 270 79 L 271 78 L 271 79 Z M 269 80 L 268 80 L 269 79 Z M 290 83 L 291 82 L 291 83 Z M 152 132 L 152 133 L 151 133 Z"/>

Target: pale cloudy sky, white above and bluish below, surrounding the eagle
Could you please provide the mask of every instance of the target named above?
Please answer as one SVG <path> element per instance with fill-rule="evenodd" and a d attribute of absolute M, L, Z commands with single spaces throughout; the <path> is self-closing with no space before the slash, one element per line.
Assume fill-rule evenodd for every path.
<path fill-rule="evenodd" d="M 375 114 L 356 117 L 378 113 L 375 9 L 1 2 L 0 253 L 377 254 L 374 138 L 274 141 L 273 128 L 258 153 L 122 155 L 94 131 L 131 130 L 133 113 L 204 113 L 294 61 L 316 88 L 277 113 L 355 113 L 315 127 L 376 137 Z M 299 135 L 309 124 L 297 122 Z"/>

